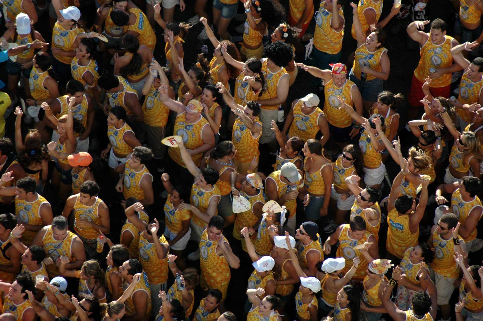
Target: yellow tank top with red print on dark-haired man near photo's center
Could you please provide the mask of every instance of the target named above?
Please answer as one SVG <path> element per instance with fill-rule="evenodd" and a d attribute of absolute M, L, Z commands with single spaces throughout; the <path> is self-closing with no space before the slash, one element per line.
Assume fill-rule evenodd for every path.
<path fill-rule="evenodd" d="M 253 120 L 254 123 L 257 123 L 262 126 L 260 119 L 256 117 Z M 258 150 L 258 140 L 262 135 L 262 130 L 260 129 L 260 133 L 255 138 L 252 134 L 252 131 L 248 129 L 245 124 L 240 120 L 238 117 L 235 120 L 235 124 L 233 125 L 233 134 L 231 135 L 231 140 L 233 141 L 233 145 L 235 145 L 235 149 L 237 150 L 237 154 L 235 154 L 235 160 L 241 163 L 250 163 L 253 157 L 260 156 L 260 151 Z"/>

